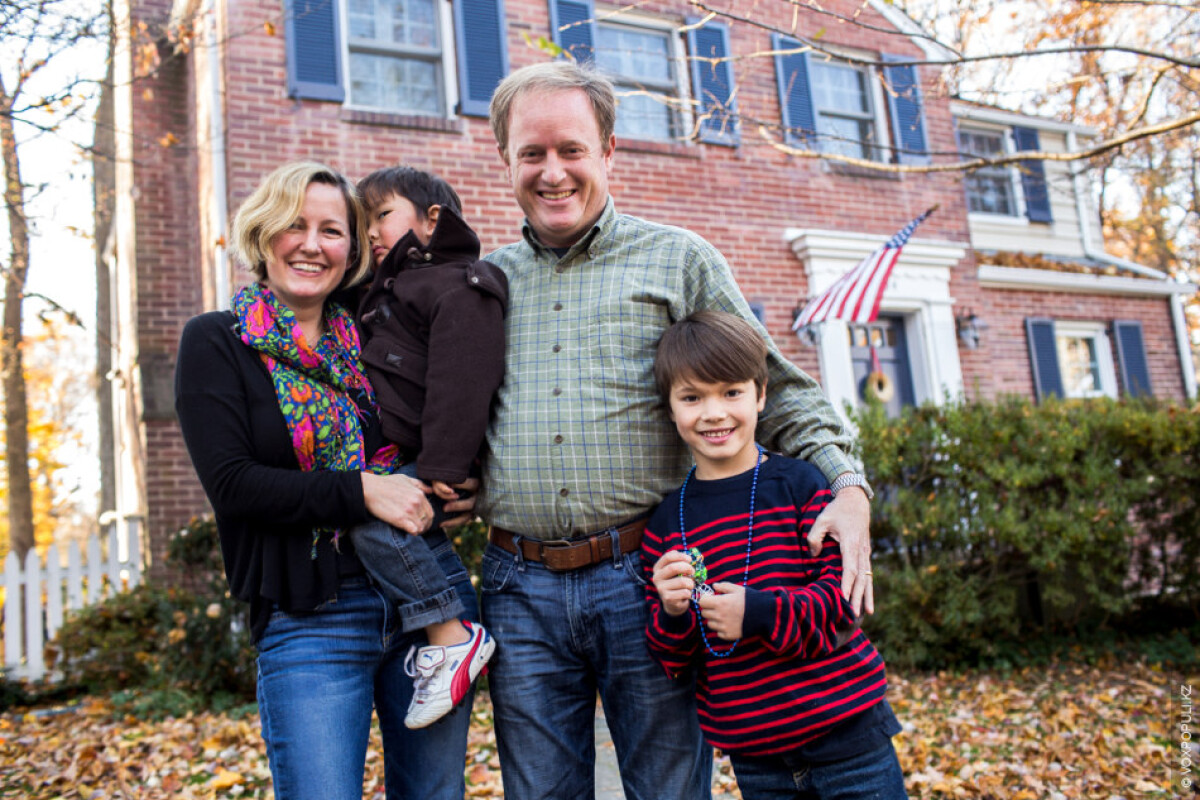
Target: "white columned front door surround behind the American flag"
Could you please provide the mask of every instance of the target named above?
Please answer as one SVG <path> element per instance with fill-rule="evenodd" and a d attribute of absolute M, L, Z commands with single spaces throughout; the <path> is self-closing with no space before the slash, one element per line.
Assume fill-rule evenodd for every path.
<path fill-rule="evenodd" d="M 785 241 L 808 276 L 810 291 L 824 291 L 834 281 L 887 241 L 886 236 L 844 230 L 788 229 Z M 941 404 L 964 392 L 954 329 L 950 271 L 966 255 L 959 242 L 911 240 L 900 253 L 883 295 L 880 313 L 904 317 L 913 399 Z M 850 356 L 846 323 L 822 324 L 817 355 L 821 384 L 839 414 L 860 405 Z"/>

